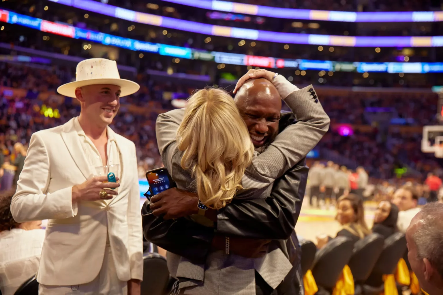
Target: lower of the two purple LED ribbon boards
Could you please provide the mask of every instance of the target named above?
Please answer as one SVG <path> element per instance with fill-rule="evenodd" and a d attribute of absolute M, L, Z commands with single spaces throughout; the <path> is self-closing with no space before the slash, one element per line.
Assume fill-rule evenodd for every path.
<path fill-rule="evenodd" d="M 87 11 L 109 15 L 131 22 L 144 23 L 151 26 L 165 27 L 180 31 L 194 32 L 213 36 L 232 37 L 249 40 L 260 40 L 286 44 L 311 44 L 348 47 L 440 47 L 443 36 L 404 37 L 404 36 L 334 36 L 319 34 L 282 33 L 262 30 L 251 30 L 237 27 L 215 26 L 207 23 L 191 22 L 183 19 L 153 15 L 133 11 L 117 6 L 103 4 L 93 0 L 51 0 Z"/>

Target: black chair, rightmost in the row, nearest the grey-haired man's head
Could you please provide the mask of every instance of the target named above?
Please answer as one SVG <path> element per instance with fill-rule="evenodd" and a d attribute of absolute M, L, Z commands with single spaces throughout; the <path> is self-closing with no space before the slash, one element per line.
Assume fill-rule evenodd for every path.
<path fill-rule="evenodd" d="M 383 275 L 393 274 L 397 263 L 406 251 L 406 238 L 402 233 L 392 234 L 385 240 L 383 251 L 378 257 L 369 278 L 363 285 L 366 295 L 376 295 L 383 290 Z"/>

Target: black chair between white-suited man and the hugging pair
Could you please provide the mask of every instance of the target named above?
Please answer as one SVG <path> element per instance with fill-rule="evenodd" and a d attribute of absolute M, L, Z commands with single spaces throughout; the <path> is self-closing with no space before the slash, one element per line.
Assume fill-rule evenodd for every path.
<path fill-rule="evenodd" d="M 148 253 L 143 257 L 141 295 L 165 295 L 168 283 L 166 258 L 158 253 Z"/>

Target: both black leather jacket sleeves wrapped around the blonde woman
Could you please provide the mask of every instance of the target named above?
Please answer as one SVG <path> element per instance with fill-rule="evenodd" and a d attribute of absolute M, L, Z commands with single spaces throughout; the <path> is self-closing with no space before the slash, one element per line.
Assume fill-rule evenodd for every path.
<path fill-rule="evenodd" d="M 288 239 L 294 232 L 306 188 L 305 160 L 276 180 L 266 199 L 238 200 L 219 211 L 217 233 L 242 238 Z M 155 217 L 146 201 L 142 207 L 144 236 L 148 241 L 188 259 L 200 260 L 209 252 L 214 229 L 186 218 Z"/>

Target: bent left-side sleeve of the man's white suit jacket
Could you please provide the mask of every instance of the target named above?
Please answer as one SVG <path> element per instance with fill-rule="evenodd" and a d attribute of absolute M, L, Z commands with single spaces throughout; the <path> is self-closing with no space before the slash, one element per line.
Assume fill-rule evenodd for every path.
<path fill-rule="evenodd" d="M 47 148 L 39 133 L 31 136 L 27 157 L 12 197 L 11 212 L 16 222 L 74 217 L 72 186 L 48 193 L 51 180 Z"/>

